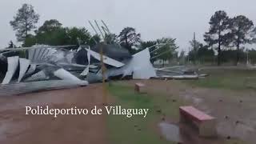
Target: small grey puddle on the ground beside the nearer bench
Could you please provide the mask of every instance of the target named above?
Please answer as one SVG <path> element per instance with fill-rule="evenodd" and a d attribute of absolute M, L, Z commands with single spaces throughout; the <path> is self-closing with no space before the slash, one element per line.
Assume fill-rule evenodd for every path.
<path fill-rule="evenodd" d="M 181 142 L 179 127 L 167 122 L 159 123 L 162 135 L 171 142 Z"/>

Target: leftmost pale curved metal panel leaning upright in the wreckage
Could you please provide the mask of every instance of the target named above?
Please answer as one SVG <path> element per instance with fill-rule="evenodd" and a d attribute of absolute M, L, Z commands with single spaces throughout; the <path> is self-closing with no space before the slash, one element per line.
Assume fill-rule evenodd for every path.
<path fill-rule="evenodd" d="M 8 62 L 8 70 L 6 72 L 5 78 L 2 81 L 2 84 L 8 84 L 11 78 L 13 78 L 14 73 L 18 68 L 18 56 L 8 57 L 7 62 Z"/>

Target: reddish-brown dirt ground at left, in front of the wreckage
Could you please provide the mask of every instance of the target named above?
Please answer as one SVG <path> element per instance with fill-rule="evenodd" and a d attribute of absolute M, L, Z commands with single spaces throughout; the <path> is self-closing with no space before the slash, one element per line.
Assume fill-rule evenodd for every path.
<path fill-rule="evenodd" d="M 101 85 L 0 97 L 0 143 L 106 143 L 104 115 L 26 115 L 25 106 L 90 109 L 102 106 Z"/>

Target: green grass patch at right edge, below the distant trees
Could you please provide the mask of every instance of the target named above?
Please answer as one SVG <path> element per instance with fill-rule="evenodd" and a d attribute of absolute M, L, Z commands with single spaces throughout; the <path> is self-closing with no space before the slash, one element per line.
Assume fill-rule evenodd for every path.
<path fill-rule="evenodd" d="M 183 81 L 192 86 L 228 90 L 248 90 L 256 88 L 256 70 L 205 70 L 206 78 Z"/>

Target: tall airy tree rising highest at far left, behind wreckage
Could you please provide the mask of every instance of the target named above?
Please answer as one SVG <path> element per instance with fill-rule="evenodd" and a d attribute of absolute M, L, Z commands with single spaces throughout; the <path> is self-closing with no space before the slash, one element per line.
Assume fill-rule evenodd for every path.
<path fill-rule="evenodd" d="M 39 14 L 36 14 L 34 7 L 29 4 L 23 4 L 22 8 L 18 9 L 18 13 L 14 16 L 14 20 L 10 21 L 10 26 L 16 30 L 18 42 L 24 42 L 31 30 L 36 28 Z"/>

